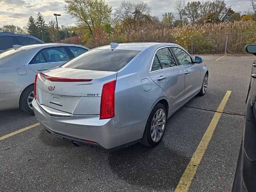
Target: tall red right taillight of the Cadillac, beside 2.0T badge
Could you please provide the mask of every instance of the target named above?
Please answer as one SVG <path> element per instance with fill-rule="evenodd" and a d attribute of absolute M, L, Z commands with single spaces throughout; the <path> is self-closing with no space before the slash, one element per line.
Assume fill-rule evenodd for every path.
<path fill-rule="evenodd" d="M 115 116 L 115 90 L 116 80 L 103 85 L 100 101 L 100 119 L 109 119 Z"/>

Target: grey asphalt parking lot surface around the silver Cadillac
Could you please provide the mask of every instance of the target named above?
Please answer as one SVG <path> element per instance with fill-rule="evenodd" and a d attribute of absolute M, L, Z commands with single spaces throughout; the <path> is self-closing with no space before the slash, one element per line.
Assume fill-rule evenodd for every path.
<path fill-rule="evenodd" d="M 206 94 L 168 119 L 155 148 L 135 144 L 111 153 L 77 148 L 38 125 L 0 140 L 0 191 L 173 192 L 227 91 L 230 97 L 189 191 L 231 191 L 255 56 L 222 56 L 202 56 L 209 68 Z M 0 137 L 35 123 L 21 110 L 0 111 Z"/>

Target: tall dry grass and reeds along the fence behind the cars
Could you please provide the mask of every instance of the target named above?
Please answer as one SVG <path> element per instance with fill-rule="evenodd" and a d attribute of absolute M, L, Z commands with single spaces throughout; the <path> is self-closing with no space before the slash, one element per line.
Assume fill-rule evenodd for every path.
<path fill-rule="evenodd" d="M 195 54 L 218 54 L 225 52 L 228 35 L 228 53 L 243 53 L 246 44 L 256 43 L 256 34 L 237 34 L 256 32 L 256 22 L 235 21 L 228 23 L 206 23 L 182 28 L 171 28 L 158 24 L 146 24 L 136 30 L 114 28 L 111 34 L 97 32 L 90 42 L 83 42 L 93 48 L 109 42 L 173 42 Z M 221 35 L 219 35 L 221 34 Z"/>

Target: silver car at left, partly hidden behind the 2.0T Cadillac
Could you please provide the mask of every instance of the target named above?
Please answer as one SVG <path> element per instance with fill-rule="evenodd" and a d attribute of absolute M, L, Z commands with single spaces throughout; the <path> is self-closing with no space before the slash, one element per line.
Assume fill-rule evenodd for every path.
<path fill-rule="evenodd" d="M 0 110 L 21 108 L 34 114 L 36 73 L 64 64 L 89 49 L 74 44 L 34 44 L 0 54 Z"/>

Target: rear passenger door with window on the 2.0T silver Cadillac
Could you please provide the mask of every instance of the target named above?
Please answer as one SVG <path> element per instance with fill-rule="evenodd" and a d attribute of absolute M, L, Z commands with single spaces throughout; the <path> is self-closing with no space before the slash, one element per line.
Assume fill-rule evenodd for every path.
<path fill-rule="evenodd" d="M 156 51 L 149 75 L 168 95 L 171 110 L 178 108 L 184 99 L 184 71 L 168 47 Z"/>

